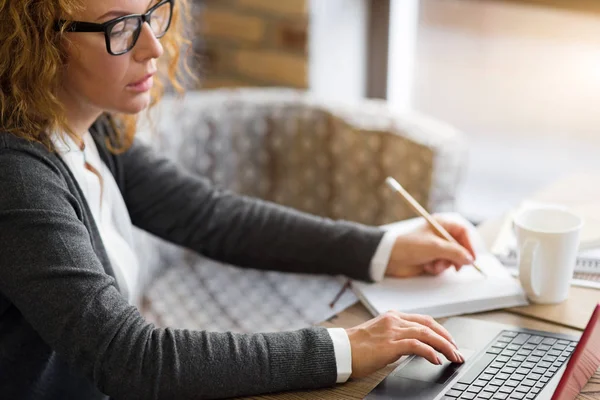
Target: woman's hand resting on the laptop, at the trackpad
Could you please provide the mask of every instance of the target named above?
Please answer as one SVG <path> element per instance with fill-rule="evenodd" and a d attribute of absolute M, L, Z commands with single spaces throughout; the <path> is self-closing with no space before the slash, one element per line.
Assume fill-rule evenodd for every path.
<path fill-rule="evenodd" d="M 463 363 L 450 333 L 433 318 L 390 311 L 346 329 L 352 351 L 352 378 L 367 376 L 400 357 L 415 354 L 441 365 L 438 352 Z"/>

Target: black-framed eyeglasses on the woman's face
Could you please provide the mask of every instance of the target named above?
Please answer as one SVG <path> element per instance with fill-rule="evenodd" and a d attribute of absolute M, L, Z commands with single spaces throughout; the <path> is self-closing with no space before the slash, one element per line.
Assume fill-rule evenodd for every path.
<path fill-rule="evenodd" d="M 175 0 L 163 0 L 146 14 L 124 15 L 103 24 L 60 20 L 56 22 L 55 29 L 60 30 L 67 24 L 66 32 L 104 32 L 106 50 L 113 56 L 119 56 L 133 49 L 145 22 L 158 39 L 163 37 L 171 26 L 174 3 Z"/>

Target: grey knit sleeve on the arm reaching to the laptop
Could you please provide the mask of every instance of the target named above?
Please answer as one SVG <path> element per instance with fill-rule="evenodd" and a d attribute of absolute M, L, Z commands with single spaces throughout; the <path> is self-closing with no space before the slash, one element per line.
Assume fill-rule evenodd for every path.
<path fill-rule="evenodd" d="M 81 205 L 48 160 L 0 150 L 0 187 L 1 294 L 107 395 L 213 399 L 335 383 L 322 328 L 233 334 L 146 322 L 104 271 Z"/>

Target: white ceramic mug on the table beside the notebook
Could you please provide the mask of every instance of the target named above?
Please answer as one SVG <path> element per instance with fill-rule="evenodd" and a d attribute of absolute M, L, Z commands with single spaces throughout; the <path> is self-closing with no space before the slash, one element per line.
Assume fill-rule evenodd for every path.
<path fill-rule="evenodd" d="M 567 299 L 583 220 L 561 208 L 526 209 L 514 219 L 519 280 L 534 303 Z"/>

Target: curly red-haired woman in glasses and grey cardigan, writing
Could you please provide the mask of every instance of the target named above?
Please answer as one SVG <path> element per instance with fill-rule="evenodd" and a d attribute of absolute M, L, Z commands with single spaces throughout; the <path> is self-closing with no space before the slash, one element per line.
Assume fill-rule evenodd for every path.
<path fill-rule="evenodd" d="M 362 280 L 474 256 L 461 226 L 445 223 L 459 246 L 315 218 L 219 191 L 134 140 L 135 115 L 160 97 L 155 74 L 178 87 L 185 12 L 183 0 L 0 0 L 2 398 L 221 398 L 333 385 L 404 354 L 462 362 L 420 315 L 250 335 L 142 318 L 132 225 L 240 266 Z"/>

